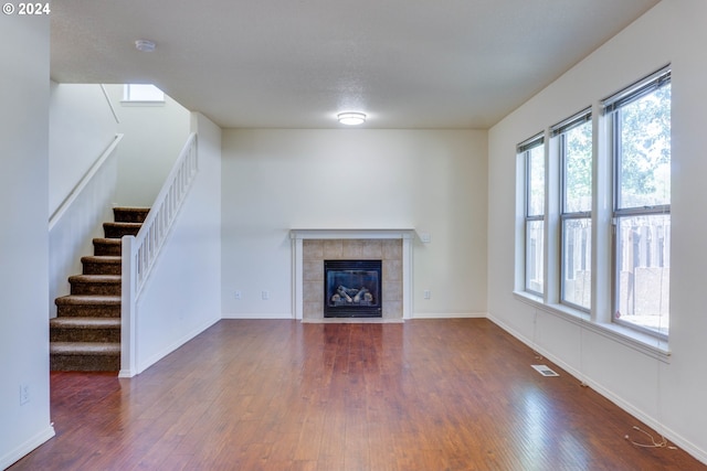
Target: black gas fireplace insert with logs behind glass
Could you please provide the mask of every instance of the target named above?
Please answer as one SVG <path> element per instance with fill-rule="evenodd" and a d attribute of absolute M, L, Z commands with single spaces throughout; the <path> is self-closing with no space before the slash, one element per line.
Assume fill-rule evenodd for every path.
<path fill-rule="evenodd" d="M 381 318 L 381 260 L 324 260 L 325 318 Z"/>

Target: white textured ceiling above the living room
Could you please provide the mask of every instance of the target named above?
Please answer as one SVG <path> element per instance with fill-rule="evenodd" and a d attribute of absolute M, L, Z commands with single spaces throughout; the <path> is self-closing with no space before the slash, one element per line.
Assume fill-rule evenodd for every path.
<path fill-rule="evenodd" d="M 486 129 L 657 2 L 56 0 L 51 73 L 154 83 L 223 128 L 356 110 L 367 128 Z"/>

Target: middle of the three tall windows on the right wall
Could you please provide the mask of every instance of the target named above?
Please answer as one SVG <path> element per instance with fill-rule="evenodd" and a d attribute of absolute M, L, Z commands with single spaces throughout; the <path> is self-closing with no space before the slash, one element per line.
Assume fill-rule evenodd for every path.
<path fill-rule="evenodd" d="M 550 128 L 560 161 L 560 301 L 589 311 L 592 254 L 592 115 Z"/>

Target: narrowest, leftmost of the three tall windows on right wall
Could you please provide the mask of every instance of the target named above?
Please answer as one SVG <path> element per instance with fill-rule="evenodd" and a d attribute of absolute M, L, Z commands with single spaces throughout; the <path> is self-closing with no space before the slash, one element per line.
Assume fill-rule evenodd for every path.
<path fill-rule="evenodd" d="M 525 290 L 545 292 L 545 139 L 518 146 L 525 168 Z"/>

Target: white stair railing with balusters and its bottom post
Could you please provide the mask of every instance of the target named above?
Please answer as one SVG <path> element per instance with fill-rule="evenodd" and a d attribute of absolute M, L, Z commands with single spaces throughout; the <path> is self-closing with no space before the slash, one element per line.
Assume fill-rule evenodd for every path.
<path fill-rule="evenodd" d="M 162 190 L 155 199 L 140 231 L 136 236 L 123 237 L 120 377 L 131 377 L 137 374 L 135 354 L 137 299 L 199 171 L 198 157 L 197 135 L 191 133 Z"/>

